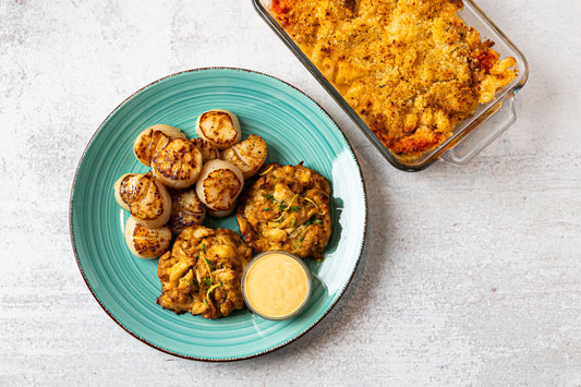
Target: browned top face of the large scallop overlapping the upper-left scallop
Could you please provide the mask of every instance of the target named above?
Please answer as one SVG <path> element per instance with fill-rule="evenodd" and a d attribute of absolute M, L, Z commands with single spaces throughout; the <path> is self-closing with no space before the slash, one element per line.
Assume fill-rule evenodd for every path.
<path fill-rule="evenodd" d="M 156 154 L 152 167 L 168 179 L 187 180 L 199 173 L 202 154 L 191 141 L 174 138 Z"/>

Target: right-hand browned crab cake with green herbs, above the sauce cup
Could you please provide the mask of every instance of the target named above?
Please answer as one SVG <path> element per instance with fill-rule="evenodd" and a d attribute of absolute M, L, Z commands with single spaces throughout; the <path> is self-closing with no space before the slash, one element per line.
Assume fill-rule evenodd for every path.
<path fill-rule="evenodd" d="M 301 164 L 266 165 L 241 195 L 237 219 L 246 243 L 261 253 L 285 250 L 323 258 L 331 235 L 330 185 Z"/>

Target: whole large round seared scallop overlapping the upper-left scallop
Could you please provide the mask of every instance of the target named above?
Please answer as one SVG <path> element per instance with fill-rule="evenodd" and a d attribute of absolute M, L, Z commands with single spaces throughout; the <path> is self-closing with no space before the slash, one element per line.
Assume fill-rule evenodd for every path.
<path fill-rule="evenodd" d="M 172 189 L 194 184 L 202 171 L 202 153 L 191 141 L 174 138 L 152 159 L 154 177 Z"/>

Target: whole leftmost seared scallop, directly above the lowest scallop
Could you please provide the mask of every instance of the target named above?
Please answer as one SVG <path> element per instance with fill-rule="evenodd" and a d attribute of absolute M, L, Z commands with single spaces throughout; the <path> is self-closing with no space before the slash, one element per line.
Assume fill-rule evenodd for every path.
<path fill-rule="evenodd" d="M 171 214 L 171 196 L 150 172 L 129 173 L 118 182 L 120 183 L 116 190 L 116 197 L 119 196 L 120 204 L 129 206 L 129 211 L 137 223 L 157 228 L 168 222 Z M 121 206 L 128 208 L 123 204 Z"/>

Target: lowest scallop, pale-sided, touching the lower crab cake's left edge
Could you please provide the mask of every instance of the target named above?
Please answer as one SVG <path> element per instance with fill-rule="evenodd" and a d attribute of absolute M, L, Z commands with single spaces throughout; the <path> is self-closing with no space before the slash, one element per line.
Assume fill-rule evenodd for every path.
<path fill-rule="evenodd" d="M 129 218 L 125 223 L 125 243 L 133 255 L 152 259 L 169 250 L 171 230 L 168 226 L 148 228 Z"/>

